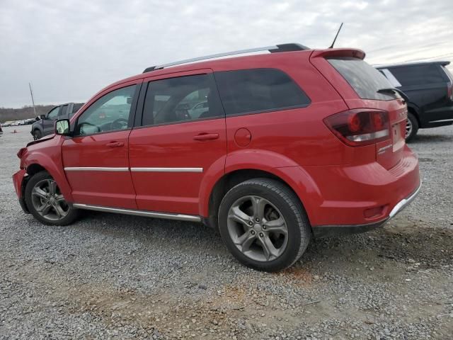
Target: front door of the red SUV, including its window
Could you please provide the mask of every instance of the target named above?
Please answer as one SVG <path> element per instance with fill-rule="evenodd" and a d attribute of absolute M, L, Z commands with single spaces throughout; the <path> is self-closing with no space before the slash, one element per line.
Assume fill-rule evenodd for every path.
<path fill-rule="evenodd" d="M 74 203 L 137 208 L 129 171 L 128 137 L 140 82 L 104 91 L 77 116 L 73 137 L 62 146 L 64 172 Z"/>

